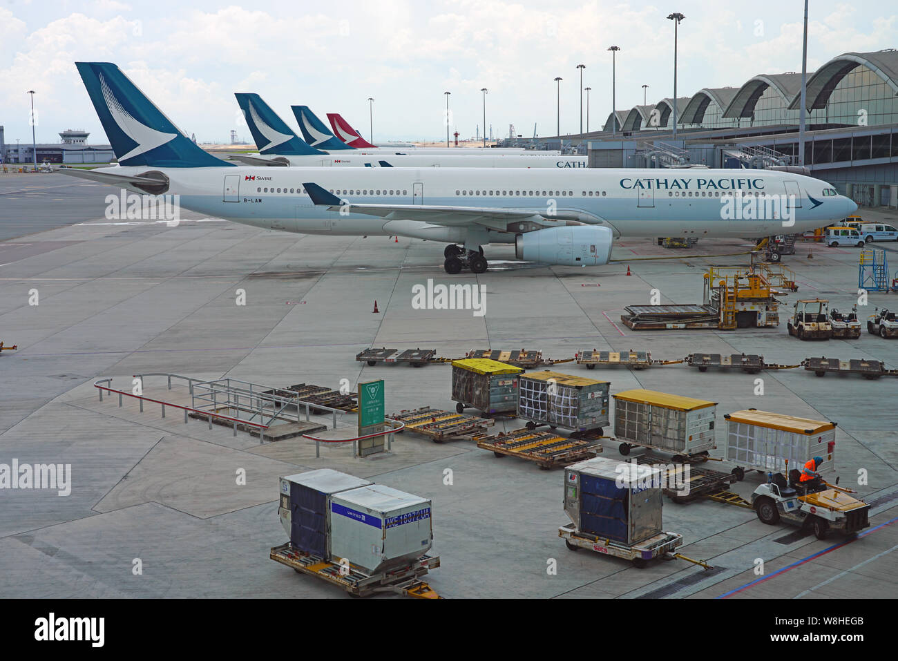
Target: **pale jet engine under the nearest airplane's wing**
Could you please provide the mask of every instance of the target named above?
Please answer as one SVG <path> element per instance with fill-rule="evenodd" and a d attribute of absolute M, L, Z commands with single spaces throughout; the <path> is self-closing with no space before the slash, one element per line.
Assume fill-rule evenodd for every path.
<path fill-rule="evenodd" d="M 562 266 L 599 266 L 612 255 L 612 231 L 608 227 L 575 225 L 550 227 L 515 236 L 515 257 Z"/>

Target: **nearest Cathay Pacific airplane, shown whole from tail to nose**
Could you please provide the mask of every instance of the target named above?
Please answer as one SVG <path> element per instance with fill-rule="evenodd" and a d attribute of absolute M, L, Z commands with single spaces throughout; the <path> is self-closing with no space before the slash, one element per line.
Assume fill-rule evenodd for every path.
<path fill-rule="evenodd" d="M 600 266 L 621 235 L 769 236 L 787 216 L 800 233 L 858 208 L 825 181 L 785 171 L 236 166 L 190 142 L 118 66 L 75 66 L 119 165 L 56 172 L 179 195 L 181 207 L 267 229 L 445 242 L 450 274 L 486 271 L 492 243 L 513 244 L 518 260 Z M 724 211 L 782 198 L 779 213 Z"/>

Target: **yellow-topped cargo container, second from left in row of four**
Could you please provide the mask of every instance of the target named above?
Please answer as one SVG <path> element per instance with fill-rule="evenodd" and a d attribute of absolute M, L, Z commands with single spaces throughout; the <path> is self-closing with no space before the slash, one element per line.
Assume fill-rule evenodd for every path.
<path fill-rule="evenodd" d="M 559 372 L 530 372 L 517 379 L 517 417 L 536 425 L 602 435 L 609 424 L 607 381 Z"/>

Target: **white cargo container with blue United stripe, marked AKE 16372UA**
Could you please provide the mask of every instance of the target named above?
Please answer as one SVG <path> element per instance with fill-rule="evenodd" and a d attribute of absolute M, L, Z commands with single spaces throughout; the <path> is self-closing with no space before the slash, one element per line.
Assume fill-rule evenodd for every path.
<path fill-rule="evenodd" d="M 330 498 L 330 551 L 369 572 L 401 568 L 433 544 L 430 500 L 371 484 Z"/>

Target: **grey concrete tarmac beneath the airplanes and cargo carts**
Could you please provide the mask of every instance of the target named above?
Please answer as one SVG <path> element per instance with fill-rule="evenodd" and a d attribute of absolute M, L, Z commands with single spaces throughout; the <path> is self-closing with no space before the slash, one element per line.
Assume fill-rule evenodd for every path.
<path fill-rule="evenodd" d="M 434 348 L 444 357 L 472 348 L 533 348 L 550 358 L 585 348 L 647 349 L 658 359 L 757 353 L 787 365 L 825 355 L 876 358 L 894 369 L 898 340 L 865 329 L 859 339 L 812 343 L 786 331 L 799 297 L 850 309 L 858 297 L 858 249 L 799 243 L 784 263 L 800 288 L 780 297 L 777 329 L 630 331 L 620 322 L 625 305 L 648 304 L 652 289 L 662 303 L 700 303 L 710 264 L 748 259 L 714 255 L 744 253 L 750 242 L 701 240 L 674 251 L 624 239 L 615 261 L 595 269 L 519 263 L 513 249 L 493 247 L 492 270 L 450 277 L 442 244 L 285 234 L 189 212 L 175 227 L 110 220 L 103 201 L 110 192 L 56 174 L 0 178 L 0 340 L 19 347 L 0 354 L 0 463 L 71 464 L 66 496 L 58 489 L 0 490 L 0 596 L 345 596 L 268 555 L 286 542 L 278 476 L 321 467 L 433 498 L 433 551 L 442 566 L 427 580 L 448 597 L 894 595 L 898 378 L 817 378 L 800 368 L 747 375 L 683 365 L 553 367 L 608 380 L 612 392 L 642 387 L 718 401 L 718 448 L 711 453 L 718 458 L 730 411 L 754 407 L 838 422 L 837 473 L 842 486 L 873 503 L 867 532 L 850 543 L 836 534 L 818 541 L 788 524 L 764 525 L 748 509 L 665 499 L 665 529 L 682 533 L 680 551 L 709 561 L 714 569 L 707 572 L 682 560 L 639 569 L 568 551 L 558 536 L 568 523 L 563 473 L 497 459 L 471 441 L 436 444 L 405 432 L 389 453 L 358 459 L 334 445 L 316 458 L 312 441 L 260 443 L 229 427 L 185 424 L 180 411 L 163 418 L 158 405 L 140 412 L 128 398 L 119 408 L 116 397 L 99 401 L 93 385 L 111 377 L 113 387 L 130 391 L 133 375 L 144 373 L 277 387 L 336 388 L 347 379 L 353 389 L 383 378 L 387 410 L 454 407 L 449 366 L 355 360 L 360 350 L 383 346 Z M 892 224 L 898 216 L 860 213 Z M 898 266 L 898 243 L 875 247 Z M 652 259 L 658 257 L 674 259 Z M 412 287 L 428 278 L 485 286 L 486 314 L 413 308 Z M 242 295 L 245 304 L 238 304 Z M 379 313 L 372 313 L 375 301 Z M 893 295 L 871 293 L 861 318 L 875 306 L 894 307 Z M 757 379 L 763 394 L 756 394 Z M 162 377 L 146 377 L 144 393 L 189 401 L 183 383 L 169 391 Z M 351 424 L 351 417 L 340 420 L 341 427 Z M 493 429 L 520 426 L 506 419 Z M 612 443 L 603 454 L 620 457 Z M 711 465 L 718 466 L 729 470 Z M 238 483 L 241 473 L 245 484 Z M 749 472 L 732 489 L 749 498 L 764 480 Z M 552 560 L 556 573 L 547 572 Z"/>

